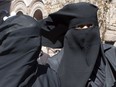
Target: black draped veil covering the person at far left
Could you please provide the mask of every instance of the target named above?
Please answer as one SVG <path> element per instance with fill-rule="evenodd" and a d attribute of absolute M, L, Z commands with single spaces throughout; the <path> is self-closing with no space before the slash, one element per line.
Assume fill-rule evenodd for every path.
<path fill-rule="evenodd" d="M 26 15 L 0 25 L 0 87 L 32 87 L 41 49 L 38 23 Z"/>

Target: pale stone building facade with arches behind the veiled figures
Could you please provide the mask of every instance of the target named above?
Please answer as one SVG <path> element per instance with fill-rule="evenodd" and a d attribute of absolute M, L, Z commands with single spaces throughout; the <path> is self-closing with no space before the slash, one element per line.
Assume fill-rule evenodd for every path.
<path fill-rule="evenodd" d="M 9 10 L 9 15 L 15 12 L 17 15 L 26 14 L 40 20 L 68 3 L 85 1 L 99 7 L 102 40 L 112 44 L 116 42 L 116 0 L 0 0 L 0 9 Z"/>

